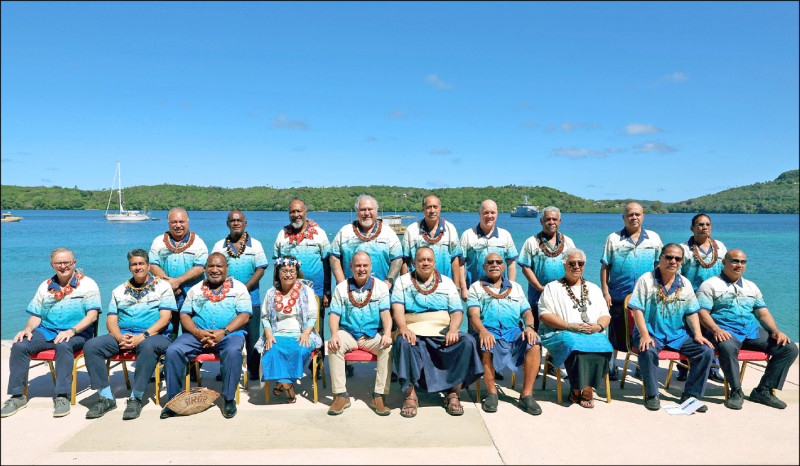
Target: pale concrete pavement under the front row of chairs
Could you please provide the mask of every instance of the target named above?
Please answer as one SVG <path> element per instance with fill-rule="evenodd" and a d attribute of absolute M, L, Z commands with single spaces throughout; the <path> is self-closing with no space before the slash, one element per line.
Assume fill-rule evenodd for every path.
<path fill-rule="evenodd" d="M 0 378 L 5 395 L 10 342 L 2 342 Z M 666 378 L 661 364 L 659 380 Z M 204 385 L 220 390 L 214 380 L 216 363 L 204 367 Z M 208 373 L 205 373 L 209 370 Z M 297 386 L 298 401 L 283 397 L 264 400 L 263 385 L 242 390 L 239 412 L 224 419 L 220 402 L 202 413 L 159 419 L 152 384 L 142 416 L 122 421 L 128 391 L 122 369 L 112 370 L 117 409 L 96 420 L 85 419 L 97 395 L 88 389 L 85 369 L 78 373 L 78 402 L 64 418 L 52 417 L 53 382 L 47 366 L 31 371 L 28 407 L 5 418 L 2 464 L 798 464 L 800 400 L 798 364 L 778 396 L 789 406 L 776 410 L 745 400 L 744 409 L 725 408 L 723 387 L 709 382 L 705 414 L 670 416 L 642 405 L 639 380 L 628 376 L 625 388 L 612 382 L 610 404 L 595 398 L 594 409 L 566 401 L 558 404 L 555 380 L 534 397 L 543 414 L 530 416 L 514 400 L 510 377 L 501 382 L 497 413 L 484 413 L 474 403 L 475 386 L 462 392 L 464 415 L 451 417 L 441 396 L 422 394 L 416 418 L 399 414 L 402 395 L 396 384 L 387 403 L 391 415 L 376 416 L 367 406 L 374 364 L 357 364 L 348 379 L 352 407 L 328 416 L 330 388 L 320 384 L 320 403 L 311 396 L 311 379 Z M 763 369 L 748 365 L 744 390 L 748 395 Z M 521 374 L 520 374 L 521 375 Z M 517 380 L 517 390 L 521 386 Z M 330 386 L 329 386 L 330 387 Z M 677 403 L 683 383 L 661 389 L 662 405 Z M 165 393 L 162 383 L 162 394 Z M 467 395 L 469 393 L 469 395 Z M 601 389 L 604 397 L 605 390 Z M 645 439 L 650 443 L 645 443 Z M 409 445 L 414 445 L 409 448 Z"/>

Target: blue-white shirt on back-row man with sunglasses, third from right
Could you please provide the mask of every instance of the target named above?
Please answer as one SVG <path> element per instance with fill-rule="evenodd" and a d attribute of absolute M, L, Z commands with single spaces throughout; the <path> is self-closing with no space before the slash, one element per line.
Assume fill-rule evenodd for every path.
<path fill-rule="evenodd" d="M 495 226 L 494 231 L 486 236 L 480 223 L 461 234 L 461 250 L 465 258 L 464 274 L 467 285 L 483 275 L 483 260 L 489 254 L 500 254 L 504 261 L 516 260 L 519 255 L 511 233 Z M 503 272 L 503 277 L 508 277 L 508 269 Z"/>

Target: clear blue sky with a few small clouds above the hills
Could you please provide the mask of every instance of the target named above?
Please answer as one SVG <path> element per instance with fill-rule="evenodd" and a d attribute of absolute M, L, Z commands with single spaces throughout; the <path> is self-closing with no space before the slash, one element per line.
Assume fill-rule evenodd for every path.
<path fill-rule="evenodd" d="M 3 2 L 2 184 L 549 186 L 798 168 L 798 3 Z M 535 200 L 534 200 L 535 203 Z"/>

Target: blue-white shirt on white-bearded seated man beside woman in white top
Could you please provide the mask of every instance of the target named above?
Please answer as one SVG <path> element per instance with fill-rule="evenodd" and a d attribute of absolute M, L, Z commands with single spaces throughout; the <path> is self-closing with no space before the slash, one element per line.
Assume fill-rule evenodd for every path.
<path fill-rule="evenodd" d="M 484 285 L 497 294 L 503 294 L 509 288 L 511 291 L 505 298 L 497 299 L 486 292 L 483 288 Z M 495 338 L 506 341 L 513 341 L 519 335 L 519 330 L 524 323 L 522 315 L 531 310 L 519 283 L 510 282 L 504 278 L 498 290 L 494 284 L 487 281 L 486 277 L 469 287 L 467 309 L 473 308 L 480 311 L 481 322 L 486 330 Z"/>

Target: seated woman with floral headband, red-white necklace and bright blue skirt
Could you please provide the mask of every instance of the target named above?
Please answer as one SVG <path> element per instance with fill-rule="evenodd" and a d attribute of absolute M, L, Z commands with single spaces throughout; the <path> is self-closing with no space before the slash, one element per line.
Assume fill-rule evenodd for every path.
<path fill-rule="evenodd" d="M 286 392 L 289 403 L 296 401 L 294 381 L 303 376 L 303 366 L 322 339 L 314 330 L 319 306 L 314 290 L 303 284 L 300 261 L 292 256 L 275 260 L 273 286 L 267 291 L 261 318 L 264 335 L 256 344 L 260 348 L 261 380 L 274 380 L 272 394 Z"/>

